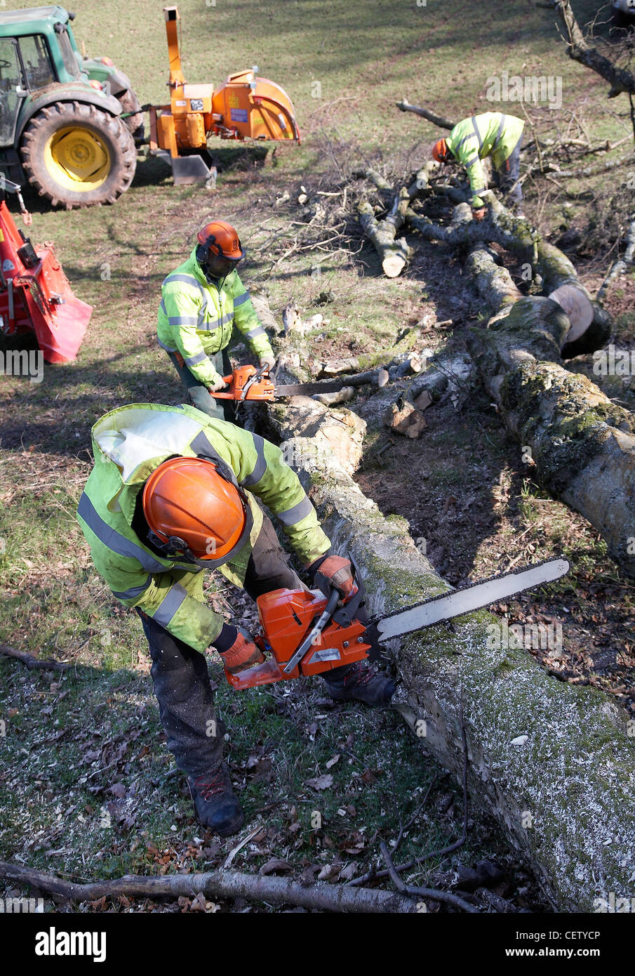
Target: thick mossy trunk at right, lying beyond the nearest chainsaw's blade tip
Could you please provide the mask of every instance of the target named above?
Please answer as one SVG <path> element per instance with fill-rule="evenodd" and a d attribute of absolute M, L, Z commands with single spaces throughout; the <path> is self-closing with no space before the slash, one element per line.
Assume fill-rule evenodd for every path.
<path fill-rule="evenodd" d="M 487 329 L 470 329 L 468 347 L 500 416 L 529 447 L 534 477 L 575 508 L 635 576 L 635 419 L 585 376 L 561 365 L 569 318 L 547 298 L 507 305 L 490 286 L 508 276 L 484 247 L 467 262 L 480 295 L 499 312 Z M 503 314 L 506 313 L 506 314 Z"/>

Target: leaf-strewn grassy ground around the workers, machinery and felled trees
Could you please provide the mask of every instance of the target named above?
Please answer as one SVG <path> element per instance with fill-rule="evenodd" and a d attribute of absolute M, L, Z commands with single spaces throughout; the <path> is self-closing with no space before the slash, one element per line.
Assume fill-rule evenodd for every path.
<path fill-rule="evenodd" d="M 0 10 L 19 6 L 7 0 Z M 579 20 L 596 8 L 592 0 L 575 4 Z M 123 403 L 180 401 L 178 378 L 156 344 L 156 307 L 161 281 L 187 255 L 195 231 L 214 218 L 235 224 L 249 250 L 241 274 L 248 284 L 266 284 L 278 320 L 290 301 L 312 313 L 319 293 L 330 291 L 333 301 L 321 309 L 330 319 L 324 348 L 381 361 L 422 309 L 436 310 L 439 319 L 452 317 L 462 302 L 460 284 L 447 291 L 445 262 L 430 248 L 391 281 L 377 274 L 377 259 L 361 240 L 354 259 L 333 247 L 285 259 L 299 220 L 295 201 L 301 183 L 329 191 L 355 160 L 388 172 L 416 170 L 438 131 L 397 111 L 394 102 L 406 96 L 454 118 L 496 110 L 486 101 L 487 79 L 503 70 L 562 77 L 562 108 L 532 108 L 541 133 L 557 132 L 573 109 L 593 142 L 619 139 L 629 125 L 627 103 L 607 102 L 606 83 L 565 57 L 553 18 L 524 0 L 469 7 L 462 0 L 428 0 L 425 6 L 414 0 L 217 0 L 210 6 L 184 0 L 179 10 L 187 79 L 218 82 L 229 71 L 258 63 L 261 74 L 290 94 L 303 141 L 278 147 L 264 165 L 255 153 L 223 146 L 215 192 L 174 187 L 161 162 L 139 158 L 133 186 L 111 207 L 54 211 L 25 193 L 33 239 L 56 241 L 76 294 L 94 312 L 76 363 L 47 366 L 39 385 L 0 378 L 0 640 L 77 666 L 60 678 L 0 659 L 6 731 L 0 738 L 0 856 L 77 878 L 214 865 L 232 846 L 206 838 L 191 817 L 184 781 L 163 742 L 137 617 L 93 571 L 74 514 L 92 464 L 90 429 L 99 416 Z M 73 27 L 88 54 L 108 55 L 129 74 L 141 102 L 165 98 L 167 49 L 158 0 L 86 0 Z M 289 202 L 276 205 L 285 190 Z M 560 232 L 562 200 L 545 205 L 530 191 L 530 215 L 536 208 L 537 217 L 538 207 L 541 226 Z M 583 201 L 575 202 L 568 220 L 586 220 L 584 208 Z M 583 258 L 581 275 L 589 287 L 597 287 L 610 260 Z M 617 332 L 626 345 L 635 327 L 629 295 L 632 275 L 612 293 Z M 430 340 L 434 348 L 446 342 L 443 333 Z M 3 340 L 0 347 L 16 346 Z M 618 395 L 628 399 L 630 390 Z M 470 540 L 469 559 L 467 550 L 450 552 L 457 564 L 463 559 L 460 575 L 490 568 L 512 531 L 533 522 L 529 540 L 537 547 L 551 551 L 564 538 L 579 555 L 584 587 L 593 572 L 616 580 L 612 599 L 623 608 L 619 633 L 625 632 L 630 592 L 596 534 L 563 506 L 552 518 L 543 517 L 536 487 L 521 492 L 516 449 L 504 442 L 488 404 L 475 410 L 487 424 L 489 444 L 474 444 L 468 427 L 451 433 L 439 428 L 420 459 L 432 467 L 429 506 L 436 504 L 439 489 L 451 489 L 460 501 L 461 471 L 470 452 L 481 452 L 480 460 L 499 473 L 496 524 L 483 523 L 483 538 Z M 376 449 L 372 438 L 380 436 L 371 431 L 369 443 Z M 386 472 L 367 456 L 365 490 L 381 496 L 384 510 L 403 513 L 399 485 L 383 490 L 395 471 L 403 474 L 398 449 L 390 465 Z M 483 490 L 490 492 L 489 480 Z M 424 501 L 417 512 L 421 519 L 430 517 Z M 444 512 L 443 519 L 451 516 L 452 510 L 449 516 Z M 421 531 L 427 534 L 424 525 Z M 218 584 L 215 592 L 211 585 L 210 598 L 231 605 L 237 619 L 253 620 L 253 610 L 223 587 Z M 341 872 L 342 878 L 351 876 L 346 871 L 362 873 L 377 856 L 379 839 L 396 836 L 400 817 L 408 820 L 414 813 L 435 775 L 427 812 L 403 844 L 404 860 L 460 833 L 459 793 L 396 715 L 350 706 L 334 710 L 320 697 L 317 682 L 237 696 L 224 684 L 218 662 L 211 670 L 219 708 L 229 719 L 230 758 L 248 824 L 262 825 L 235 867 L 255 870 L 275 855 L 307 876 L 323 870 L 334 879 Z M 328 789 L 306 786 L 327 773 L 334 777 Z M 321 828 L 312 826 L 315 811 Z M 509 897 L 519 906 L 543 907 L 492 824 L 474 815 L 468 845 L 459 853 L 464 863 L 496 857 L 514 879 Z M 424 883 L 430 871 L 448 867 L 433 861 L 415 876 Z M 231 903 L 224 907 L 232 910 Z"/>

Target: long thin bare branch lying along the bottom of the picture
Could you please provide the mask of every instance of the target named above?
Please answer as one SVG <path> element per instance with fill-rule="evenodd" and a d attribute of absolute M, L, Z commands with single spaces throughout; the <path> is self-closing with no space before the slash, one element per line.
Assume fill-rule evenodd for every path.
<path fill-rule="evenodd" d="M 299 884 L 287 877 L 243 874 L 237 871 L 211 871 L 205 874 L 164 874 L 160 877 L 126 874 L 109 881 L 79 884 L 55 874 L 44 874 L 0 861 L 0 877 L 18 884 L 28 884 L 75 902 L 99 898 L 195 898 L 200 892 L 207 898 L 247 898 L 272 902 L 274 905 L 301 905 L 325 912 L 404 913 L 416 912 L 414 899 L 375 888 L 350 888 L 346 885 Z M 439 892 L 439 894 L 442 894 Z"/>

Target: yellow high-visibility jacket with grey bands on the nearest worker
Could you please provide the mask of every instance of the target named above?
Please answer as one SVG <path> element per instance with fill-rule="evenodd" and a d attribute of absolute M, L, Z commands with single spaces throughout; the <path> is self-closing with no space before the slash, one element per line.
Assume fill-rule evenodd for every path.
<path fill-rule="evenodd" d="M 139 491 L 167 458 L 220 459 L 246 491 L 253 517 L 249 539 L 229 562 L 211 564 L 237 586 L 244 584 L 262 525 L 255 496 L 280 520 L 302 562 L 318 559 L 331 546 L 280 449 L 194 407 L 133 403 L 112 410 L 93 427 L 93 455 L 95 467 L 77 519 L 99 575 L 125 606 L 139 607 L 197 651 L 213 644 L 223 625 L 223 618 L 205 601 L 203 571 L 157 555 L 132 527 Z"/>

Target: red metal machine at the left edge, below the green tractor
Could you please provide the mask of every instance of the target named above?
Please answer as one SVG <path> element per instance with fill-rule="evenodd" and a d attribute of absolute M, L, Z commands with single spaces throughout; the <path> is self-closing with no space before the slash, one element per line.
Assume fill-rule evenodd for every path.
<path fill-rule="evenodd" d="M 72 362 L 82 344 L 93 308 L 72 293 L 53 244 L 33 245 L 18 229 L 5 202 L 5 190 L 16 193 L 24 224 L 20 186 L 0 180 L 0 335 L 34 332 L 50 363 Z"/>

